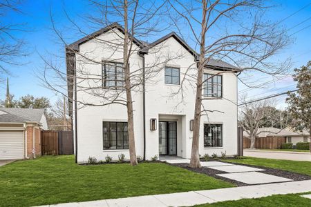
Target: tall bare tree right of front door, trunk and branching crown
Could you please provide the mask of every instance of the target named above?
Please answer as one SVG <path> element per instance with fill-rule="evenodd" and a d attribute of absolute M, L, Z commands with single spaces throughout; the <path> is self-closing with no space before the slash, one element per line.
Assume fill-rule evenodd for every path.
<path fill-rule="evenodd" d="M 169 1 L 171 10 L 168 15 L 173 25 L 178 28 L 184 39 L 187 34 L 187 39 L 199 50 L 196 76 L 185 75 L 185 79 L 196 80 L 191 168 L 200 168 L 200 119 L 210 112 L 215 112 L 209 110 L 205 103 L 210 98 L 202 97 L 202 89 L 207 81 L 226 72 L 238 74 L 245 70 L 256 70 L 266 75 L 278 76 L 288 69 L 287 61 L 270 61 L 272 55 L 288 44 L 288 37 L 285 36 L 284 30 L 279 29 L 277 23 L 262 20 L 263 12 L 267 10 L 265 3 L 260 0 L 202 0 L 187 3 L 180 0 Z M 210 63 L 215 59 L 220 60 L 220 63 L 224 60 L 231 66 L 220 64 L 218 68 L 211 67 Z M 203 73 L 207 68 L 214 70 L 214 75 L 203 80 Z"/>

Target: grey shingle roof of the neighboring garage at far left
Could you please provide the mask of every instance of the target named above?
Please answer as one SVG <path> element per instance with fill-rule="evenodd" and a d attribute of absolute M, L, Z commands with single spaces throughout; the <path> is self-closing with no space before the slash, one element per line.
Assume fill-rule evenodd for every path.
<path fill-rule="evenodd" d="M 0 108 L 0 122 L 40 122 L 43 108 Z"/>

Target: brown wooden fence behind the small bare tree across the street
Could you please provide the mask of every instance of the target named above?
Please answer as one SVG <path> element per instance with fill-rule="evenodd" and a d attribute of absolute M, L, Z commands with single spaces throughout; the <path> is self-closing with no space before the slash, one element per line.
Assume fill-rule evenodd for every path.
<path fill-rule="evenodd" d="M 286 142 L 285 137 L 258 137 L 255 141 L 257 149 L 280 149 L 282 144 Z M 250 148 L 250 139 L 243 138 L 243 148 Z"/>

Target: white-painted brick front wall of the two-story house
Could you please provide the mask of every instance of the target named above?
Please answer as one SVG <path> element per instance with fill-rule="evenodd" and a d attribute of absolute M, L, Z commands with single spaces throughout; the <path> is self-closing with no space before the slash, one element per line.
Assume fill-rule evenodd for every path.
<path fill-rule="evenodd" d="M 109 41 L 114 38 L 113 33 L 104 33 L 100 38 Z M 121 33 L 119 35 L 122 35 Z M 122 51 L 113 52 L 109 48 L 99 48 L 93 40 L 83 43 L 79 47 L 81 53 L 89 52 L 97 61 L 102 59 L 122 59 Z M 176 57 L 164 63 L 167 55 Z M 157 130 L 150 130 L 150 119 L 157 121 L 177 121 L 178 140 L 177 155 L 189 158 L 191 155 L 192 132 L 189 130 L 189 120 L 194 117 L 195 84 L 184 83 L 184 96 L 176 95 L 171 97 L 172 92 L 177 92 L 180 86 L 164 84 L 164 65 L 176 66 L 180 68 L 180 80 L 185 75 L 187 68 L 196 66 L 194 57 L 183 48 L 174 38 L 169 38 L 159 46 L 151 48 L 149 55 L 145 55 L 146 68 L 155 62 L 159 64 L 159 73 L 156 77 L 148 79 L 146 83 L 146 158 L 151 159 L 159 154 L 158 126 Z M 91 74 L 102 74 L 101 64 L 84 65 L 82 59 L 77 57 L 77 68 L 84 67 Z M 142 58 L 133 54 L 130 59 L 130 70 L 142 67 Z M 187 74 L 194 74 L 195 70 L 188 70 Z M 208 72 L 208 70 L 206 71 Z M 223 99 L 207 100 L 204 102 L 208 110 L 220 110 L 220 112 L 209 112 L 209 119 L 202 117 L 200 127 L 200 154 L 204 155 L 215 152 L 226 152 L 227 155 L 234 155 L 237 152 L 237 108 L 234 103 L 237 101 L 236 76 L 232 73 L 223 74 Z M 89 81 L 78 82 L 79 86 L 87 86 Z M 88 82 L 88 83 L 87 83 Z M 93 84 L 93 83 L 91 83 Z M 137 155 L 143 156 L 143 114 L 142 114 L 142 92 L 133 92 L 134 108 L 134 132 Z M 78 100 L 91 100 L 99 103 L 95 97 L 87 95 L 85 92 L 77 92 Z M 230 101 L 228 101 L 230 100 Z M 232 102 L 234 103 L 232 103 Z M 78 103 L 77 110 L 77 147 L 78 162 L 87 161 L 88 157 L 96 157 L 97 160 L 104 160 L 106 155 L 117 159 L 120 153 L 129 159 L 129 150 L 103 150 L 102 121 L 126 121 L 126 106 L 113 104 L 109 106 L 87 106 L 82 107 Z M 203 123 L 223 124 L 223 147 L 204 148 L 203 146 Z"/>

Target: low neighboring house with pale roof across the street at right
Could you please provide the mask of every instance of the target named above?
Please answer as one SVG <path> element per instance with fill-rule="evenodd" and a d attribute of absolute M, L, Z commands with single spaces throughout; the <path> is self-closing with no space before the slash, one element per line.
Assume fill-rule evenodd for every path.
<path fill-rule="evenodd" d="M 282 143 L 292 143 L 295 146 L 298 142 L 310 141 L 310 134 L 308 132 L 306 132 L 305 130 L 303 132 L 296 132 L 289 127 L 283 129 L 272 127 L 259 128 L 258 132 L 259 134 L 257 135 L 256 139 L 262 139 L 262 141 L 256 141 L 255 148 L 270 148 L 265 146 L 274 146 L 272 148 L 281 148 Z M 249 139 L 249 135 L 247 134 L 247 132 L 243 132 L 243 137 L 245 139 Z M 270 138 L 271 140 L 267 138 Z"/>

